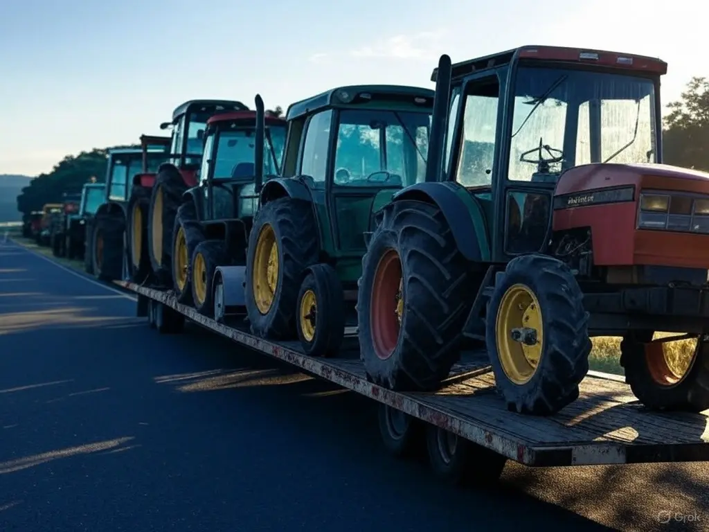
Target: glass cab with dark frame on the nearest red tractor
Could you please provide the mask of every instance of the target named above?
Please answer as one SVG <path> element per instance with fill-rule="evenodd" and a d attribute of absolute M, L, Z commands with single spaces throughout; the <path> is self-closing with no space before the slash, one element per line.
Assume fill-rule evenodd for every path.
<path fill-rule="evenodd" d="M 427 180 L 472 194 L 490 262 L 545 250 L 558 209 L 633 201 L 619 165 L 661 162 L 660 60 L 525 46 L 448 67 L 432 75 L 448 110 Z"/>

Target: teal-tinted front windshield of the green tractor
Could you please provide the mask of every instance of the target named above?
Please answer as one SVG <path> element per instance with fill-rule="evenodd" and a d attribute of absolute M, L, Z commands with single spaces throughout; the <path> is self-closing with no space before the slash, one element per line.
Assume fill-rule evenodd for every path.
<path fill-rule="evenodd" d="M 340 111 L 335 185 L 392 187 L 422 182 L 430 119 L 430 113 L 414 111 Z"/>

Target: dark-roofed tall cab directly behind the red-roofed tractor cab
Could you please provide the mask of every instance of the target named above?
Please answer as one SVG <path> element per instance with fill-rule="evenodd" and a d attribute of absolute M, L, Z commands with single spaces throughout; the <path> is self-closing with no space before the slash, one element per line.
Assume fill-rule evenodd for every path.
<path fill-rule="evenodd" d="M 160 129 L 172 128 L 169 162 L 177 167 L 189 187 L 197 182 L 208 119 L 235 111 L 248 111 L 248 107 L 240 101 L 189 100 L 172 111 L 172 121 L 160 124 Z"/>

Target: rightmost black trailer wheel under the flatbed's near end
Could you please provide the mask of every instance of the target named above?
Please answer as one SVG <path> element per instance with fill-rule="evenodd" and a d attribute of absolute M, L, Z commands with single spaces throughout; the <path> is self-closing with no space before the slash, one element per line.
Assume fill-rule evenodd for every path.
<path fill-rule="evenodd" d="M 435 425 L 426 429 L 426 448 L 435 475 L 458 486 L 489 487 L 507 462 L 503 455 Z"/>

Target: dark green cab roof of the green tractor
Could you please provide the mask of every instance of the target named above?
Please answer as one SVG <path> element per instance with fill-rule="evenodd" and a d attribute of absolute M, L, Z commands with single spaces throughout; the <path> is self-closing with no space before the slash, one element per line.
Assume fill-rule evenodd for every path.
<path fill-rule="evenodd" d="M 424 89 L 423 87 L 409 87 L 406 85 L 350 85 L 347 87 L 335 87 L 323 93 L 311 96 L 310 98 L 296 101 L 291 104 L 286 111 L 286 120 L 293 120 L 299 116 L 313 113 L 320 109 L 328 107 L 346 105 L 348 101 L 354 101 L 357 97 L 362 97 L 365 94 L 370 98 L 379 96 L 384 98 L 398 99 L 404 98 L 424 98 L 425 104 L 433 105 L 434 92 L 432 89 Z M 345 100 L 342 99 L 345 96 Z M 430 100 L 430 101 L 429 101 Z"/>

